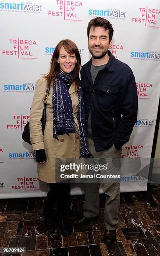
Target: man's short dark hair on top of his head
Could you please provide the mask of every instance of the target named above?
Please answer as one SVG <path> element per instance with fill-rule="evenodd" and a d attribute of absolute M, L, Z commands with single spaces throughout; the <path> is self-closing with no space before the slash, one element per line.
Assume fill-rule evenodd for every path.
<path fill-rule="evenodd" d="M 109 33 L 109 37 L 110 37 L 110 41 L 112 39 L 113 36 L 113 28 L 112 28 L 112 24 L 106 20 L 105 18 L 101 18 L 101 17 L 96 17 L 92 20 L 90 20 L 90 22 L 88 23 L 88 27 L 87 27 L 87 36 L 89 38 L 89 33 L 90 33 L 90 28 L 95 28 L 95 27 L 102 27 L 105 28 L 105 30 L 108 29 L 108 33 Z"/>

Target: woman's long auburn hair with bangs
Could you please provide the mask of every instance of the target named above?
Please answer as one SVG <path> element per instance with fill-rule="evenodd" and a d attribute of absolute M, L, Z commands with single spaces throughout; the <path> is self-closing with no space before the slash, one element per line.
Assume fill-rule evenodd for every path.
<path fill-rule="evenodd" d="M 52 55 L 52 59 L 50 61 L 50 71 L 44 76 L 47 80 L 47 84 L 50 86 L 51 83 L 55 82 L 55 79 L 57 77 L 57 73 L 60 71 L 60 64 L 57 62 L 57 59 L 60 55 L 60 48 L 64 47 L 65 51 L 67 51 L 68 54 L 75 54 L 75 57 L 77 59 L 77 62 L 75 63 L 75 74 L 72 79 L 72 83 L 75 84 L 76 90 L 78 89 L 78 86 L 80 84 L 80 68 L 81 68 L 81 59 L 80 59 L 80 53 L 78 51 L 78 48 L 76 44 L 69 40 L 69 39 L 64 39 L 61 40 L 57 46 L 55 47 L 55 50 Z"/>

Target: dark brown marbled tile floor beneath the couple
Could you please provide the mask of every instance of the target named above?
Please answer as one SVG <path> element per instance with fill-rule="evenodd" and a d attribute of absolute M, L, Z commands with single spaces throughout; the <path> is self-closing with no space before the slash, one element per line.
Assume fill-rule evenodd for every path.
<path fill-rule="evenodd" d="M 160 185 L 152 185 L 151 191 L 158 207 L 151 207 L 143 192 L 120 195 L 117 241 L 107 247 L 102 241 L 104 195 L 100 195 L 100 218 L 73 226 L 67 238 L 59 230 L 55 234 L 45 230 L 43 198 L 0 200 L 0 247 L 26 247 L 25 256 L 160 256 Z M 83 200 L 70 197 L 70 218 L 82 210 Z"/>

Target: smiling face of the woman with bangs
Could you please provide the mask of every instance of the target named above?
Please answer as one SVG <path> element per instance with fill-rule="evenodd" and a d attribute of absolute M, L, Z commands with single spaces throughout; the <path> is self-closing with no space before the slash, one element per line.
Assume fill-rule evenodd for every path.
<path fill-rule="evenodd" d="M 70 73 L 75 68 L 75 63 L 77 62 L 77 59 L 75 57 L 75 54 L 68 54 L 62 46 L 60 48 L 60 54 L 57 62 L 60 64 L 60 71 Z"/>

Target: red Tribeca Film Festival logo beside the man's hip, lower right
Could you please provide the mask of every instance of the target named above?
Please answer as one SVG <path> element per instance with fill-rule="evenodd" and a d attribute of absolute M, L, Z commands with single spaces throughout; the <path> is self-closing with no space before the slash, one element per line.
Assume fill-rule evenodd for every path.
<path fill-rule="evenodd" d="M 131 145 L 125 146 L 121 158 L 141 158 L 141 152 L 143 151 L 143 145 Z"/>

